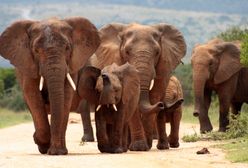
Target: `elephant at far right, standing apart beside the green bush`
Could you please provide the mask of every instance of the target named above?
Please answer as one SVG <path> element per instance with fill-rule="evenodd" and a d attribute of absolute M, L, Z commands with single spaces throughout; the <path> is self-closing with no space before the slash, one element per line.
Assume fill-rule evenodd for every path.
<path fill-rule="evenodd" d="M 213 129 L 208 117 L 211 94 L 219 99 L 219 131 L 225 132 L 229 124 L 230 106 L 239 113 L 248 102 L 248 68 L 240 64 L 240 44 L 213 39 L 196 45 L 192 52 L 195 105 L 193 115 L 199 118 L 201 133 Z"/>

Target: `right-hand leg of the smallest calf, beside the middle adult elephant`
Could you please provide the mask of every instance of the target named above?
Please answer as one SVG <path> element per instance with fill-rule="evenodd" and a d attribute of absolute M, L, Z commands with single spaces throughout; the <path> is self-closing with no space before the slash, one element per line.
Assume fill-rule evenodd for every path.
<path fill-rule="evenodd" d="M 175 111 L 172 112 L 172 117 L 170 121 L 171 131 L 169 135 L 169 144 L 171 148 L 179 147 L 179 128 L 180 121 L 182 118 L 182 107 L 178 107 Z"/>

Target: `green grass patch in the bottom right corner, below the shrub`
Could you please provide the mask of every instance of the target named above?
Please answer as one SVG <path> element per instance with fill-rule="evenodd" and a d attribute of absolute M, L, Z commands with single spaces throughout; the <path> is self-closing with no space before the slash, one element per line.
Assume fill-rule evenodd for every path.
<path fill-rule="evenodd" d="M 227 144 L 218 145 L 227 153 L 226 159 L 232 162 L 248 163 L 248 136 L 231 140 Z"/>

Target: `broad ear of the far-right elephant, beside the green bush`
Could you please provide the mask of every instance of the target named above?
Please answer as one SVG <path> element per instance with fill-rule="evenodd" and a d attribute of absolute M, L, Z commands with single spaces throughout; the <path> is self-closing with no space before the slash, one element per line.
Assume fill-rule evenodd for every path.
<path fill-rule="evenodd" d="M 224 42 L 216 45 L 216 50 L 219 51 L 220 63 L 218 70 L 214 76 L 214 83 L 220 84 L 241 69 L 240 49 L 231 42 Z"/>

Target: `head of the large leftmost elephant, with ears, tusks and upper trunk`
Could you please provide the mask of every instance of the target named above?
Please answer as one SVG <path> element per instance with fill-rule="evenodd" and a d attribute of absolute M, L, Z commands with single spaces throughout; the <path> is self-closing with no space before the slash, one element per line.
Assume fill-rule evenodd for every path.
<path fill-rule="evenodd" d="M 23 20 L 2 33 L 0 54 L 25 77 L 40 78 L 40 90 L 45 81 L 52 108 L 56 108 L 55 104 L 64 104 L 63 96 L 61 101 L 53 98 L 63 95 L 65 79 L 75 89 L 70 74 L 86 63 L 99 43 L 95 26 L 81 17 Z"/>

